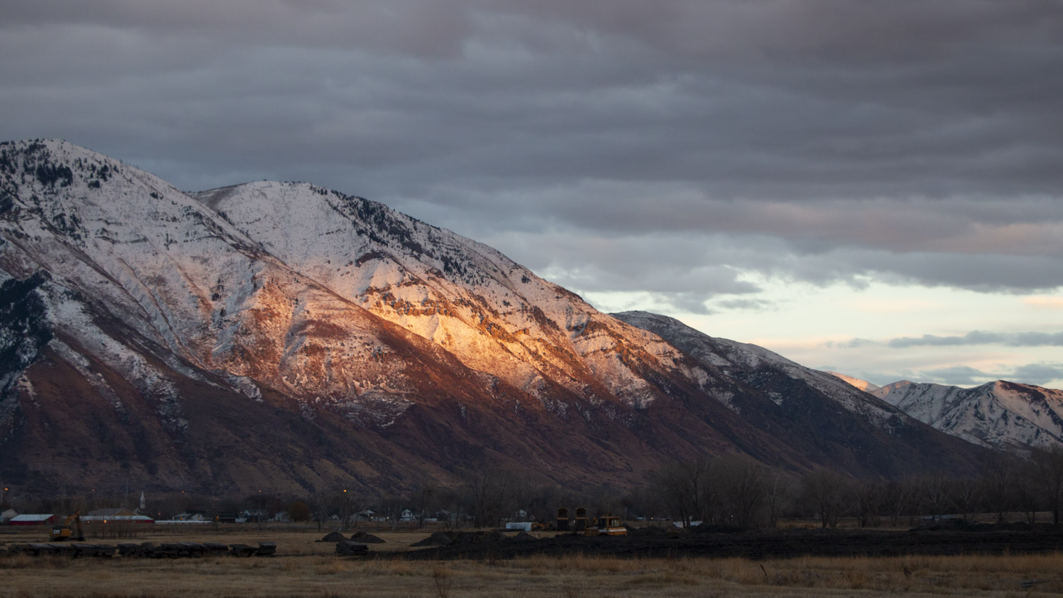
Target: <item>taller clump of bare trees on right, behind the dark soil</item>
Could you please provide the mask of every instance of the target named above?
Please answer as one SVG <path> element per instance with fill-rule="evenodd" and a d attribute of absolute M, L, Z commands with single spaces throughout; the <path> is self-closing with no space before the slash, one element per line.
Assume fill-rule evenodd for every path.
<path fill-rule="evenodd" d="M 939 471 L 896 480 L 861 480 L 825 468 L 787 473 L 745 456 L 703 457 L 663 468 L 656 484 L 664 512 L 685 526 L 775 527 L 788 516 L 824 528 L 842 517 L 860 527 L 898 527 L 922 519 L 967 523 L 980 513 L 1003 522 L 1016 512 L 1033 524 L 1045 511 L 1059 524 L 1063 447 L 986 454 L 969 476 Z"/>

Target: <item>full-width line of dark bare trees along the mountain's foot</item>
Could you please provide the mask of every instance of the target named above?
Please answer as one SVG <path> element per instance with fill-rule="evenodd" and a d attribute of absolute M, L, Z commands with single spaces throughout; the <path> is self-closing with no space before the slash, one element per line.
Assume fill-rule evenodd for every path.
<path fill-rule="evenodd" d="M 495 527 L 505 520 L 552 522 L 557 508 L 585 507 L 593 514 L 611 513 L 627 520 L 675 522 L 721 529 L 773 528 L 780 518 L 805 518 L 833 527 L 843 517 L 860 527 L 915 526 L 923 518 L 968 522 L 991 513 L 1003 522 L 1023 513 L 1034 523 L 1037 512 L 1060 523 L 1063 510 L 1063 447 L 1027 452 L 988 454 L 975 475 L 945 471 L 895 480 L 861 480 L 816 468 L 804 473 L 773 468 L 742 455 L 704 456 L 672 462 L 635 488 L 597 483 L 563 488 L 529 471 L 477 466 L 458 473 L 460 483 L 411 484 L 370 492 L 355 485 L 323 489 L 302 495 L 268 491 L 244 497 L 209 497 L 192 493 L 153 494 L 148 513 L 169 517 L 182 511 L 264 511 L 272 517 L 286 512 L 290 520 L 339 522 L 343 529 L 371 516 L 392 526 L 404 512 L 404 525 L 423 526 L 435 519 L 448 527 Z M 101 493 L 102 494 L 102 493 Z M 19 512 L 68 513 L 105 507 L 133 508 L 97 493 L 9 500 Z"/>

